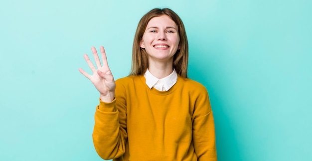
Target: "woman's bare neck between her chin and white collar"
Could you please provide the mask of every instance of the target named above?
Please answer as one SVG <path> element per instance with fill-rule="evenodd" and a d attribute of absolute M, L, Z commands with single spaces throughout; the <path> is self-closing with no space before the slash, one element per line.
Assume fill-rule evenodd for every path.
<path fill-rule="evenodd" d="M 149 71 L 158 79 L 164 78 L 170 75 L 173 71 L 173 62 L 149 62 Z"/>

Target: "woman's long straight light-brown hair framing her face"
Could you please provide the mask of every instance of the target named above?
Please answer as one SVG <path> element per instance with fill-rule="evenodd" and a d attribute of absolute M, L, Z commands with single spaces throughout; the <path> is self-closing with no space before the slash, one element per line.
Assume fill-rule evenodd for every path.
<path fill-rule="evenodd" d="M 180 49 L 178 49 L 173 56 L 173 68 L 181 77 L 187 78 L 188 42 L 184 24 L 181 18 L 169 8 L 154 8 L 141 18 L 133 42 L 132 67 L 130 75 L 142 75 L 148 69 L 148 55 L 145 49 L 140 47 L 140 42 L 149 21 L 152 18 L 159 17 L 161 15 L 169 16 L 178 27 Z"/>

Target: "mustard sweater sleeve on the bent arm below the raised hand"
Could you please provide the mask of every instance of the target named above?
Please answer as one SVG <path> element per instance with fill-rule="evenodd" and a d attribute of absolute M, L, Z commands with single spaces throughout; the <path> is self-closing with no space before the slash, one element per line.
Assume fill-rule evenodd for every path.
<path fill-rule="evenodd" d="M 116 82 L 116 98 L 111 103 L 100 100 L 95 112 L 93 144 L 104 160 L 116 159 L 125 153 L 127 141 L 125 91 Z"/>

